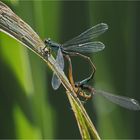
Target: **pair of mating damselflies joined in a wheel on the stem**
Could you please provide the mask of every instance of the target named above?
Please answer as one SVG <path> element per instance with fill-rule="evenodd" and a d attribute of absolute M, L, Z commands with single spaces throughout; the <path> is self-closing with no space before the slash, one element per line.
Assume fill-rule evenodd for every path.
<path fill-rule="evenodd" d="M 97 93 L 97 95 L 102 95 L 109 101 L 116 103 L 124 108 L 130 109 L 130 110 L 140 110 L 140 105 L 138 101 L 128 98 L 128 97 L 123 97 L 123 96 L 118 96 L 118 95 L 113 95 L 105 91 L 96 91 L 94 88 L 92 88 L 90 85 L 88 85 L 88 81 L 90 81 L 95 73 L 95 66 L 92 63 L 91 59 L 87 57 L 86 55 L 83 55 L 82 53 L 95 53 L 98 51 L 101 51 L 105 48 L 105 45 L 102 42 L 99 41 L 91 41 L 92 39 L 98 37 L 102 33 L 104 33 L 108 29 L 108 25 L 105 23 L 100 23 L 97 24 L 96 26 L 93 26 L 89 28 L 88 30 L 84 31 L 80 35 L 76 36 L 75 38 L 67 41 L 64 44 L 58 44 L 51 39 L 46 39 L 45 44 L 46 46 L 50 47 L 53 51 L 57 52 L 56 56 L 56 64 L 59 65 L 59 67 L 64 70 L 64 58 L 65 57 L 69 61 L 69 69 L 72 69 L 71 65 L 71 60 L 69 56 L 80 56 L 89 61 L 90 65 L 92 66 L 92 73 L 90 76 L 80 82 L 74 82 L 71 81 L 72 77 L 72 72 L 69 75 L 69 80 L 70 83 L 74 82 L 74 87 L 76 89 L 77 94 L 85 97 L 85 98 L 90 98 L 93 94 Z M 72 78 L 73 79 L 73 78 Z M 61 85 L 60 79 L 53 73 L 52 77 L 52 87 L 53 89 L 58 89 L 59 86 Z M 88 92 L 89 94 L 86 94 L 84 92 Z M 84 94 L 83 94 L 84 93 Z"/>

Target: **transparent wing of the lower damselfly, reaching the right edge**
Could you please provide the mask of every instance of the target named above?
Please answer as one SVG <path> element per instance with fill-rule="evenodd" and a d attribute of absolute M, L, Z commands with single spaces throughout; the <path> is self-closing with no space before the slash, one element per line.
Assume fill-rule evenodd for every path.
<path fill-rule="evenodd" d="M 104 96 L 109 101 L 111 101 L 121 107 L 130 109 L 130 110 L 140 110 L 139 102 L 136 101 L 135 99 L 132 99 L 129 97 L 113 95 L 111 93 L 108 93 L 108 92 L 105 92 L 102 90 L 98 90 L 98 91 L 96 91 L 96 93 L 98 93 L 98 95 Z"/>

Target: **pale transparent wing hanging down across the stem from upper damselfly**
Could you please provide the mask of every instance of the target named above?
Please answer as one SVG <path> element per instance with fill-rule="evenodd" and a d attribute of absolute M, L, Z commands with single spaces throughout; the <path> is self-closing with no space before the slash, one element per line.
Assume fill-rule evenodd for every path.
<path fill-rule="evenodd" d="M 58 52 L 57 52 L 56 67 L 58 67 L 61 70 L 64 70 L 64 58 L 63 58 L 63 54 L 62 54 L 60 48 L 58 49 Z M 53 76 L 52 76 L 53 89 L 57 90 L 60 85 L 61 85 L 60 79 L 57 77 L 57 75 L 55 73 L 53 73 Z"/>

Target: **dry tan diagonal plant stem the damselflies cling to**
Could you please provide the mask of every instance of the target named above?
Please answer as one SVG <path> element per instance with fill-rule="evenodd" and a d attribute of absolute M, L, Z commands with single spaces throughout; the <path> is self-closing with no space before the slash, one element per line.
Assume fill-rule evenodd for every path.
<path fill-rule="evenodd" d="M 42 49 L 45 47 L 43 41 L 27 23 L 19 18 L 8 6 L 2 2 L 0 2 L 0 31 L 15 38 L 17 41 L 36 53 L 60 78 L 63 86 L 66 89 L 66 93 L 75 114 L 82 139 L 100 139 L 94 125 L 88 117 L 80 100 L 76 97 L 76 93 L 74 92 L 64 72 L 56 67 L 56 62 L 53 56 L 50 55 L 50 57 L 46 59 L 46 57 L 42 54 Z"/>

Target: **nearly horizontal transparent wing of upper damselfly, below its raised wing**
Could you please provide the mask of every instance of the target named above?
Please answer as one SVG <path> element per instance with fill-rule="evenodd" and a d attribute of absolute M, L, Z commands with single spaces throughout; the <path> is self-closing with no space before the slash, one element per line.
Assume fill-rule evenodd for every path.
<path fill-rule="evenodd" d="M 93 53 L 101 51 L 105 48 L 105 45 L 102 42 L 88 42 L 84 44 L 72 45 L 69 47 L 64 48 L 67 51 L 74 51 L 74 52 L 84 52 L 84 53 Z"/>

